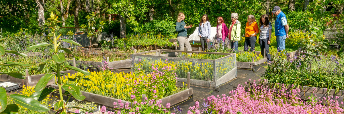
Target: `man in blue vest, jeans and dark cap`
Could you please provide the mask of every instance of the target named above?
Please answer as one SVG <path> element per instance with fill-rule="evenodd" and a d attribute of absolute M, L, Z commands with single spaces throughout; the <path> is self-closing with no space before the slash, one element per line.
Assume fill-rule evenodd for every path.
<path fill-rule="evenodd" d="M 277 50 L 280 52 L 286 49 L 286 38 L 289 38 L 287 17 L 278 6 L 273 7 L 271 12 L 276 15 L 275 36 L 277 40 Z"/>

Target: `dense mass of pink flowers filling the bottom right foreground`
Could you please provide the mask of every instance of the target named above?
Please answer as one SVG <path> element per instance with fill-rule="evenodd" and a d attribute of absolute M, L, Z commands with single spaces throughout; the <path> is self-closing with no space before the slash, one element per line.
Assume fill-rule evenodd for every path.
<path fill-rule="evenodd" d="M 196 102 L 189 108 L 187 114 L 343 114 L 344 110 L 338 101 L 314 99 L 310 102 L 301 100 L 299 89 L 287 90 L 283 85 L 280 89 L 270 89 L 267 86 L 246 83 L 246 87 L 238 85 L 228 95 L 210 96 L 204 99 L 203 106 Z"/>

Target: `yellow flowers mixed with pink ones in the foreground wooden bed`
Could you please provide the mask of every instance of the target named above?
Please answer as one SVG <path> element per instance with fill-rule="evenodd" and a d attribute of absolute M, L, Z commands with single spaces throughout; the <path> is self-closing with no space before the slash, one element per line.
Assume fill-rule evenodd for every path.
<path fill-rule="evenodd" d="M 148 74 L 141 71 L 142 68 L 137 68 L 131 73 L 112 73 L 108 70 L 92 72 L 85 76 L 89 80 L 78 82 L 73 79 L 83 74 L 68 74 L 69 79 L 62 79 L 62 82 L 77 85 L 82 91 L 126 101 L 139 101 L 142 94 L 146 94 L 148 99 L 161 99 L 186 89 L 176 86 L 176 67 L 164 66 Z"/>

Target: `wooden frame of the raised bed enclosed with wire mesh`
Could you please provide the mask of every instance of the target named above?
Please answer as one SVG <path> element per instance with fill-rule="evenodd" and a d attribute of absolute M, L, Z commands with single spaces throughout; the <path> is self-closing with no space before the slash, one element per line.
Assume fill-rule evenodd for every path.
<path fill-rule="evenodd" d="M 155 55 L 144 55 L 145 53 L 151 53 L 155 52 Z M 161 52 L 172 52 L 172 53 L 167 53 L 167 54 L 161 54 Z M 206 60 L 206 59 L 190 59 L 190 58 L 179 58 L 176 57 L 178 53 L 201 53 L 201 54 L 221 54 L 221 55 L 226 55 L 222 58 L 216 59 L 216 60 Z M 233 58 L 234 64 L 236 64 L 236 55 L 235 53 L 219 53 L 219 52 L 201 52 L 201 51 L 181 51 L 181 50 L 165 50 L 165 49 L 158 49 L 158 50 L 151 50 L 151 51 L 145 51 L 145 52 L 140 52 L 140 53 L 135 53 L 132 54 L 133 56 L 133 66 L 135 65 L 136 62 L 139 61 L 139 57 L 147 57 L 147 58 L 155 58 L 155 59 L 161 59 L 161 60 L 174 60 L 174 61 L 179 61 L 179 60 L 185 60 L 185 61 L 201 61 L 201 62 L 211 62 L 214 63 L 214 69 L 212 70 L 213 72 L 213 79 L 212 80 L 197 80 L 197 79 L 191 79 L 190 83 L 191 85 L 196 85 L 196 86 L 202 86 L 202 87 L 218 87 L 222 84 L 225 84 L 226 82 L 234 79 L 237 77 L 237 66 L 234 65 L 233 69 L 230 71 L 226 72 L 225 74 L 216 74 L 216 64 L 221 64 L 219 62 L 228 59 L 230 57 Z M 186 78 L 178 77 L 179 82 L 187 82 Z M 217 79 L 218 78 L 218 79 Z"/>

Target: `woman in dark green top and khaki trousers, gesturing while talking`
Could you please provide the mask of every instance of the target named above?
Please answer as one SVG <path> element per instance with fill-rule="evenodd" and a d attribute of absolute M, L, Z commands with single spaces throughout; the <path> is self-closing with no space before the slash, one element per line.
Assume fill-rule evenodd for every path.
<path fill-rule="evenodd" d="M 178 14 L 177 22 L 175 23 L 175 30 L 178 32 L 177 41 L 179 43 L 180 50 L 184 51 L 184 46 L 186 46 L 187 51 L 192 51 L 189 39 L 187 39 L 187 30 L 186 30 L 188 28 L 191 28 L 192 25 L 186 26 L 184 19 L 185 19 L 184 13 L 180 12 Z"/>

